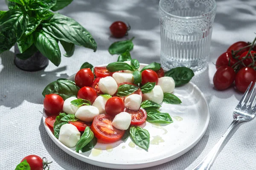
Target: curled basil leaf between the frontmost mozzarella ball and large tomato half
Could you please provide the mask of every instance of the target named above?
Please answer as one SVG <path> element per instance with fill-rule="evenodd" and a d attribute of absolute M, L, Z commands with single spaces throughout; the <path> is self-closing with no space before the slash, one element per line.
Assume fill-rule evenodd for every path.
<path fill-rule="evenodd" d="M 76 152 L 79 153 L 79 150 L 81 150 L 85 145 L 87 145 L 91 140 L 93 140 L 93 137 L 93 132 L 90 130 L 90 127 L 87 126 L 81 138 L 76 144 Z"/>

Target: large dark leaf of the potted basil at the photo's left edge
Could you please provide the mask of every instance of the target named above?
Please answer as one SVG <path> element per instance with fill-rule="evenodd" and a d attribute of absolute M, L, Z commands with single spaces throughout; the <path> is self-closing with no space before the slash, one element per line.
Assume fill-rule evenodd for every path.
<path fill-rule="evenodd" d="M 0 53 L 9 50 L 24 34 L 29 16 L 21 9 L 12 9 L 0 18 Z"/>

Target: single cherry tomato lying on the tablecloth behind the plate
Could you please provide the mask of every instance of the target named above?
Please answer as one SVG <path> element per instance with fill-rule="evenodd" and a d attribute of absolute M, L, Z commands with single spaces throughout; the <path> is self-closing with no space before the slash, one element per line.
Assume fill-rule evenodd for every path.
<path fill-rule="evenodd" d="M 111 34 L 116 38 L 125 37 L 128 31 L 126 24 L 122 21 L 116 21 L 109 27 Z"/>

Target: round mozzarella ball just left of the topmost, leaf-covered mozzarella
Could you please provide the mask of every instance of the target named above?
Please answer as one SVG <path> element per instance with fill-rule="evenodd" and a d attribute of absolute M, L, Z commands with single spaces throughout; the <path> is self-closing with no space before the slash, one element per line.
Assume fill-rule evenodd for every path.
<path fill-rule="evenodd" d="M 108 76 L 99 80 L 99 90 L 103 93 L 113 95 L 117 91 L 117 84 L 113 77 Z"/>

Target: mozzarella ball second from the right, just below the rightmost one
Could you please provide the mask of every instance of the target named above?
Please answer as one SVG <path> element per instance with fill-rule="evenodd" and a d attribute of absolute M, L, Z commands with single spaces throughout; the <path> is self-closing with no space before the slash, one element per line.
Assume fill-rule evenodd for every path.
<path fill-rule="evenodd" d="M 142 99 L 143 101 L 151 100 L 153 102 L 156 102 L 157 104 L 160 104 L 161 102 L 163 102 L 163 90 L 159 85 L 155 85 L 151 92 L 143 94 Z"/>

